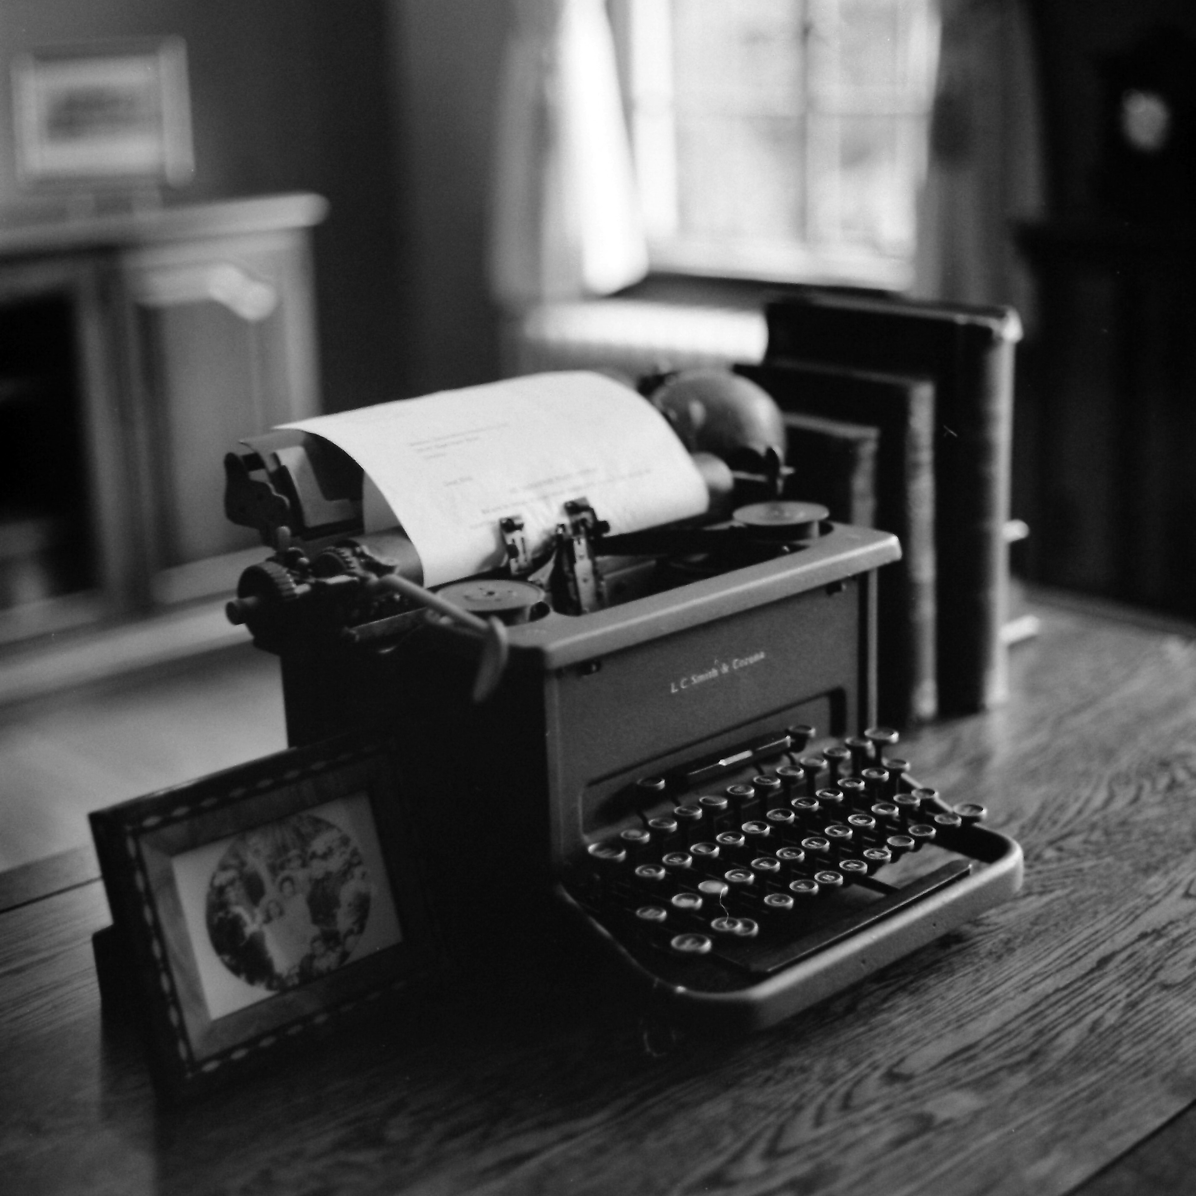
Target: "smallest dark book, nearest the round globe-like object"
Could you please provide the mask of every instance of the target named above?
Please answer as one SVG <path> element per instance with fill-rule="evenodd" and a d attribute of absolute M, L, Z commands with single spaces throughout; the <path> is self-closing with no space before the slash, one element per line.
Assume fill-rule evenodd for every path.
<path fill-rule="evenodd" d="M 880 429 L 799 411 L 785 413 L 789 493 L 820 502 L 836 523 L 877 526 Z"/>

